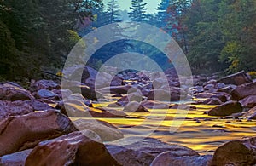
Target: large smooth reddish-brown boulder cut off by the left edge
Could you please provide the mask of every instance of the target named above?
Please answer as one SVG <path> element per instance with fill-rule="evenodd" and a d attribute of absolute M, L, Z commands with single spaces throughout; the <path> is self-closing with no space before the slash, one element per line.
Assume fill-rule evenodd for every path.
<path fill-rule="evenodd" d="M 75 130 L 73 123 L 60 112 L 37 112 L 4 118 L 0 121 L 0 156 L 32 148 L 42 140 Z"/>

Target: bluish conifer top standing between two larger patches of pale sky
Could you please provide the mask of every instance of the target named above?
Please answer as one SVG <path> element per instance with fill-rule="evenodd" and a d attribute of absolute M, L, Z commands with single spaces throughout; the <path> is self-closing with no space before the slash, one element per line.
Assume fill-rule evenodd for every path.
<path fill-rule="evenodd" d="M 143 0 L 131 0 L 131 12 L 129 12 L 129 17 L 132 21 L 143 22 L 147 19 L 145 7 L 147 3 L 143 3 Z"/>

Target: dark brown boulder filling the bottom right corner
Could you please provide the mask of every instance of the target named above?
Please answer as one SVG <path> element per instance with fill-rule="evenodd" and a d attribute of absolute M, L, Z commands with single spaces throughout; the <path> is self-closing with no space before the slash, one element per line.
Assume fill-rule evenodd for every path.
<path fill-rule="evenodd" d="M 256 137 L 231 140 L 214 152 L 212 166 L 255 165 Z"/>

